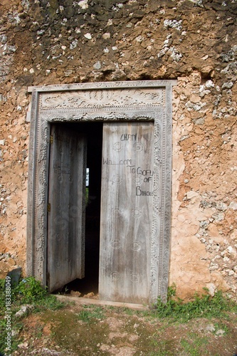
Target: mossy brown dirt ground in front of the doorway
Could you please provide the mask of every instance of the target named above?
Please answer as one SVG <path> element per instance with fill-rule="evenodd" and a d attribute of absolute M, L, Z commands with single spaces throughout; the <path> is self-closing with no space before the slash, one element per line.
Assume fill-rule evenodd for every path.
<path fill-rule="evenodd" d="M 19 345 L 12 355 L 233 355 L 236 314 L 172 323 L 150 310 L 71 303 L 33 313 L 16 324 Z"/>

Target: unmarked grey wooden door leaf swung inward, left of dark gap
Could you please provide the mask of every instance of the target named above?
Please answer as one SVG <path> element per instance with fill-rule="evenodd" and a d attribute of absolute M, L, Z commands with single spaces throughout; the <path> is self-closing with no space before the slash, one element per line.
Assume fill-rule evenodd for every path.
<path fill-rule="evenodd" d="M 86 140 L 52 125 L 48 189 L 48 290 L 84 277 Z"/>

